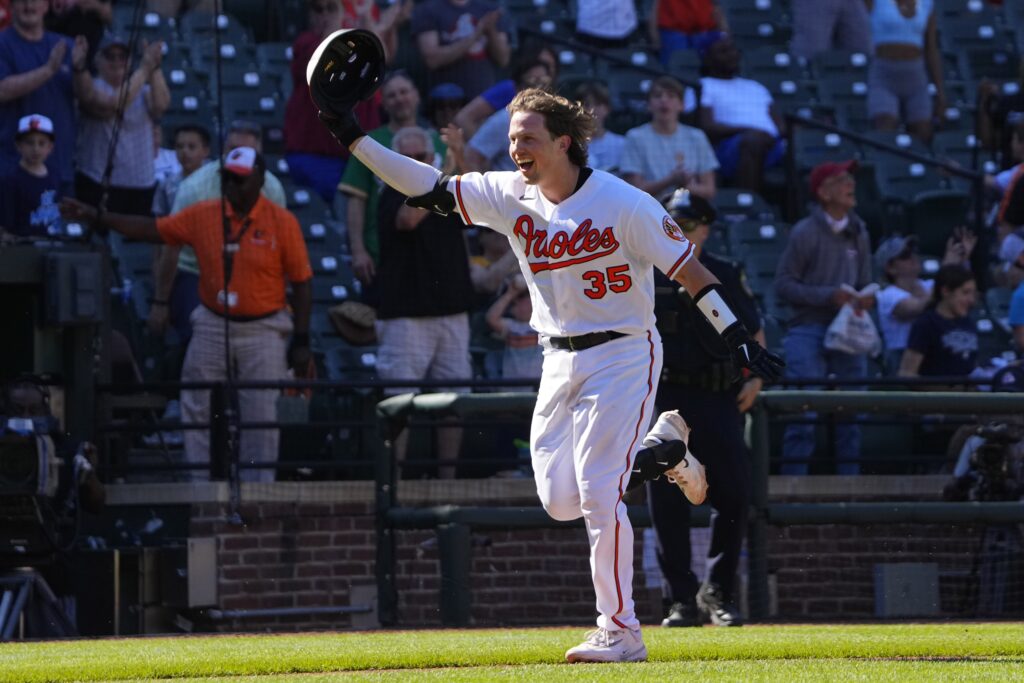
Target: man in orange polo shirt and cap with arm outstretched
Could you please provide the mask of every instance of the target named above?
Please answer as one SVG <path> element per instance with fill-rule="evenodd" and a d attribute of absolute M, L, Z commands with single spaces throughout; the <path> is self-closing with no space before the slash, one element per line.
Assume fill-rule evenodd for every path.
<path fill-rule="evenodd" d="M 222 185 L 230 223 L 227 287 L 224 287 L 224 232 L 219 199 L 194 204 L 163 218 L 103 213 L 99 220 L 132 240 L 190 246 L 199 261 L 202 306 L 193 312 L 193 338 L 185 354 L 181 380 L 210 382 L 226 377 L 224 318 L 230 321 L 229 362 L 240 381 L 273 381 L 287 369 L 309 361 L 309 310 L 312 269 L 299 223 L 287 209 L 260 195 L 264 161 L 252 147 L 237 147 L 224 159 Z M 69 199 L 60 204 L 70 220 L 95 222 L 96 209 Z M 292 285 L 289 315 L 285 288 Z M 225 292 L 226 289 L 226 292 Z M 288 344 L 291 335 L 291 344 Z M 242 422 L 278 419 L 279 391 L 239 391 Z M 209 422 L 210 393 L 181 392 L 182 421 Z M 246 469 L 278 460 L 276 429 L 243 429 L 243 481 L 272 481 L 273 469 Z M 206 429 L 185 431 L 185 460 L 208 464 L 210 434 Z M 208 478 L 208 470 L 193 470 L 194 478 Z"/>

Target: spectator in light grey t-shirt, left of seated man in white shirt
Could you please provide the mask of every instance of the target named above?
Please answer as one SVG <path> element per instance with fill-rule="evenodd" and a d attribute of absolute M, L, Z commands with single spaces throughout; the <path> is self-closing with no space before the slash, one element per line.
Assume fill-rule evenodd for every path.
<path fill-rule="evenodd" d="M 680 187 L 714 200 L 718 157 L 702 130 L 679 123 L 683 84 L 671 76 L 654 79 L 647 106 L 650 123 L 626 133 L 623 179 L 659 201 Z"/>

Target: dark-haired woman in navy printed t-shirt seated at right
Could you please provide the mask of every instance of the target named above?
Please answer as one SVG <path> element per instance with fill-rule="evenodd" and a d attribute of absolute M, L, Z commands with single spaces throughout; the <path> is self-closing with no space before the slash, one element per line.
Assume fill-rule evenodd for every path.
<path fill-rule="evenodd" d="M 978 332 L 969 317 L 978 297 L 974 273 L 959 264 L 939 268 L 932 302 L 913 323 L 900 377 L 970 375 L 978 367 Z"/>

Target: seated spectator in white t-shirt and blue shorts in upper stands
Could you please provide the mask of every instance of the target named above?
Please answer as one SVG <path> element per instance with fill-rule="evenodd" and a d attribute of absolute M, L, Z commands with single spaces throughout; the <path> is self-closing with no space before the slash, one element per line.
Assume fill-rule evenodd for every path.
<path fill-rule="evenodd" d="M 723 178 L 761 191 L 764 169 L 785 156 L 784 124 L 768 88 L 739 76 L 739 50 L 728 36 L 703 54 L 700 79 L 700 128 L 715 144 Z"/>

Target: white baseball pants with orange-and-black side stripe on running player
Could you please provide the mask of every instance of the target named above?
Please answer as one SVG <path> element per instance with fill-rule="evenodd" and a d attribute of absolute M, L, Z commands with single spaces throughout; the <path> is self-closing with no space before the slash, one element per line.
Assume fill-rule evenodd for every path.
<path fill-rule="evenodd" d="M 537 490 L 555 519 L 583 517 L 597 625 L 639 626 L 633 608 L 633 526 L 623 494 L 662 374 L 654 331 L 583 351 L 545 349 L 530 427 Z"/>

